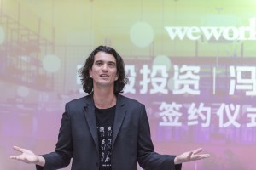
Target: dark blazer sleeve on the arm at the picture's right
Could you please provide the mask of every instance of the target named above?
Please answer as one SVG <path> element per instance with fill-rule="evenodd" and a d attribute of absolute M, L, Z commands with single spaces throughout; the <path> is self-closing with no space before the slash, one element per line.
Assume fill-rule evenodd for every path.
<path fill-rule="evenodd" d="M 139 134 L 137 141 L 137 161 L 144 170 L 180 170 L 182 165 L 174 164 L 176 156 L 160 155 L 154 152 L 150 137 L 148 116 L 143 105 L 140 111 Z"/>

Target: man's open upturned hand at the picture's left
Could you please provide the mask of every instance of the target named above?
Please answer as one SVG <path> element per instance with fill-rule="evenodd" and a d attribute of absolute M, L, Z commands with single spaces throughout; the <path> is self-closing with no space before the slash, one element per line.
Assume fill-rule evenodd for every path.
<path fill-rule="evenodd" d="M 29 164 L 36 164 L 41 167 L 45 165 L 45 159 L 42 156 L 35 155 L 31 150 L 26 150 L 18 146 L 14 146 L 14 150 L 19 151 L 21 154 L 19 156 L 10 156 L 11 159 L 18 161 L 23 161 Z"/>

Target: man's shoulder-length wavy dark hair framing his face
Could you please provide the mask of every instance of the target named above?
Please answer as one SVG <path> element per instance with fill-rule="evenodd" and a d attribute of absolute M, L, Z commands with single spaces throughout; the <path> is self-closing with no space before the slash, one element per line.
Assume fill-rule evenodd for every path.
<path fill-rule="evenodd" d="M 107 46 L 99 46 L 94 49 L 89 57 L 85 60 L 84 66 L 79 69 L 79 77 L 81 77 L 81 82 L 85 93 L 91 94 L 93 92 L 93 80 L 90 77 L 90 70 L 94 63 L 95 55 L 98 52 L 105 52 L 107 54 L 112 54 L 116 60 L 117 75 L 118 79 L 114 82 L 114 94 L 123 93 L 123 88 L 128 82 L 128 78 L 125 75 L 125 63 L 122 57 L 113 49 Z"/>

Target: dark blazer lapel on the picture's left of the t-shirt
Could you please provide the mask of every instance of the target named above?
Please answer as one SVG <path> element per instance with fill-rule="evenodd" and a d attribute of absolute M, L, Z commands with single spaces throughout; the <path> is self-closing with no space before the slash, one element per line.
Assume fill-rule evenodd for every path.
<path fill-rule="evenodd" d="M 92 94 L 88 96 L 86 103 L 84 105 L 84 115 L 85 119 L 90 128 L 90 134 L 96 144 L 96 149 L 99 152 L 99 144 L 98 144 L 98 132 L 96 127 L 96 115 L 95 115 L 95 107 L 92 99 Z"/>

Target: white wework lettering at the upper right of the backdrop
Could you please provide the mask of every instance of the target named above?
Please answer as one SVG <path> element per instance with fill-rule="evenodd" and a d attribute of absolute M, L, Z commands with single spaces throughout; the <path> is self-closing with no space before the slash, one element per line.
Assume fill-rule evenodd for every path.
<path fill-rule="evenodd" d="M 233 40 L 256 40 L 256 18 L 249 19 L 249 26 L 166 26 L 170 38 L 174 40 L 185 37 L 196 41 L 205 37 L 207 40 L 224 38 L 228 41 Z"/>

